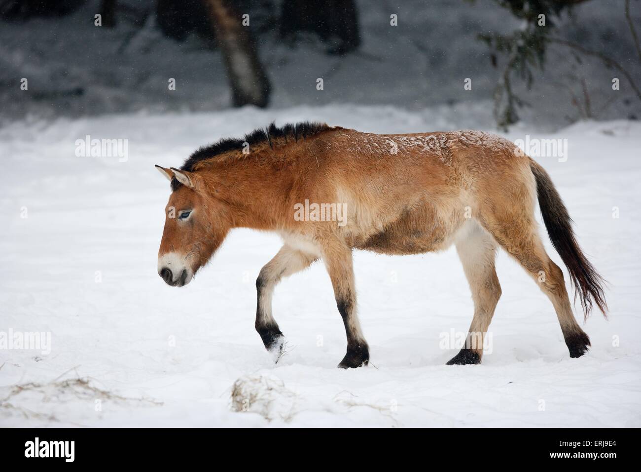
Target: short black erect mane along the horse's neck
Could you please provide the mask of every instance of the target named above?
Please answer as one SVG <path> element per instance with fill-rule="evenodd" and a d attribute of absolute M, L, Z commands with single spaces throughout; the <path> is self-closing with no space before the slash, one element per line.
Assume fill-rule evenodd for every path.
<path fill-rule="evenodd" d="M 194 171 L 194 167 L 199 162 L 212 159 L 219 154 L 233 150 L 242 150 L 244 143 L 249 143 L 249 146 L 256 144 L 269 143 L 271 148 L 274 148 L 274 140 L 288 139 L 298 141 L 299 139 L 306 139 L 309 136 L 320 133 L 321 131 L 328 130 L 329 126 L 325 123 L 317 123 L 314 121 L 303 121 L 302 123 L 291 124 L 288 123 L 282 127 L 277 127 L 272 122 L 269 127 L 258 128 L 251 133 L 246 134 L 242 138 L 226 137 L 217 143 L 210 144 L 209 146 L 202 146 L 198 148 L 192 155 L 190 155 L 180 168 L 181 170 Z M 176 190 L 182 184 L 178 180 L 171 179 L 171 189 Z"/>

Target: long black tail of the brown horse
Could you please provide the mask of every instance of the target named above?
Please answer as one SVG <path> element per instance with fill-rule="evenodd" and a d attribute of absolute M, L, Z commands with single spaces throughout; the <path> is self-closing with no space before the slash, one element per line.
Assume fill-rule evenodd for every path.
<path fill-rule="evenodd" d="M 572 218 L 570 218 L 561 196 L 554 188 L 550 176 L 532 159 L 530 159 L 529 167 L 537 179 L 538 206 L 541 209 L 547 234 L 549 234 L 554 249 L 561 256 L 570 272 L 570 279 L 575 290 L 574 299 L 576 300 L 578 294 L 586 319 L 592 310 L 593 303 L 605 316 L 608 310 L 603 293 L 605 281 L 585 257 L 576 242 L 574 231 L 572 231 Z"/>

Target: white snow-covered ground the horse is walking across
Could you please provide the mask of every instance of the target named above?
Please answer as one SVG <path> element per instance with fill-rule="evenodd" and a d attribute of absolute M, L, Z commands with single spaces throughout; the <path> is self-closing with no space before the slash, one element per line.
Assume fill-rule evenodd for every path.
<path fill-rule="evenodd" d="M 610 319 L 584 326 L 570 359 L 551 303 L 501 252 L 503 297 L 482 365 L 444 365 L 440 333 L 465 331 L 472 300 L 453 248 L 356 252 L 370 367 L 343 371 L 345 333 L 320 263 L 276 289 L 288 353 L 273 365 L 254 331 L 258 271 L 279 238 L 232 232 L 185 288 L 156 274 L 167 181 L 201 144 L 272 119 L 369 132 L 491 123 L 392 107 L 240 109 L 14 123 L 0 129 L 0 331 L 51 333 L 51 352 L 0 349 L 0 426 L 641 426 L 641 125 L 579 123 L 551 173 L 583 249 L 610 283 Z M 128 159 L 76 157 L 76 139 L 128 139 Z M 562 265 L 551 248 L 552 258 Z M 567 278 L 567 275 L 566 275 Z M 580 307 L 575 309 L 582 318 Z M 235 392 L 235 399 L 232 399 Z M 247 410 L 246 412 L 237 412 Z"/>

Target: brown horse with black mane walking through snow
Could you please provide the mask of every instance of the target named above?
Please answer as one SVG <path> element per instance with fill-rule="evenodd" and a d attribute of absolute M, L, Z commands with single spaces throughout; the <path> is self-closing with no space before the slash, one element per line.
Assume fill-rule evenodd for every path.
<path fill-rule="evenodd" d="M 501 296 L 494 259 L 501 246 L 549 297 L 570 357 L 590 339 L 572 315 L 562 270 L 537 230 L 538 203 L 554 248 L 567 266 L 585 317 L 593 302 L 606 313 L 603 280 L 581 252 L 549 175 L 503 137 L 477 131 L 378 135 L 319 123 L 224 139 L 197 150 L 171 180 L 158 273 L 183 286 L 221 245 L 229 229 L 280 234 L 284 244 L 262 268 L 256 330 L 281 353 L 285 338 L 272 317 L 274 286 L 324 262 L 347 332 L 338 367 L 359 367 L 369 349 L 356 317 L 353 249 L 420 254 L 456 245 L 474 300 L 466 344 L 448 364 L 481 362 L 481 341 Z"/>

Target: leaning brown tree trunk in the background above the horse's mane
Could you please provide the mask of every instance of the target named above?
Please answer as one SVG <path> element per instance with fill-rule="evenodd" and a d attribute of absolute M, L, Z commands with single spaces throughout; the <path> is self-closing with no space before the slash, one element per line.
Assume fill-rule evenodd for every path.
<path fill-rule="evenodd" d="M 229 0 L 204 0 L 227 69 L 233 105 L 267 107 L 271 85 L 249 26 Z"/>

